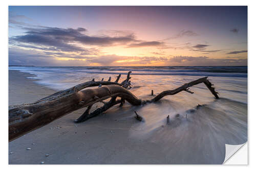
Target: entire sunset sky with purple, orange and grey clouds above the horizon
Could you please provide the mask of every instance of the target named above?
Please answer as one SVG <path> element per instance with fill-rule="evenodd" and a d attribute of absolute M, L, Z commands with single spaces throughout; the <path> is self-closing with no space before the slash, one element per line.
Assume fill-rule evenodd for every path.
<path fill-rule="evenodd" d="M 247 65 L 246 6 L 9 6 L 9 65 Z"/>

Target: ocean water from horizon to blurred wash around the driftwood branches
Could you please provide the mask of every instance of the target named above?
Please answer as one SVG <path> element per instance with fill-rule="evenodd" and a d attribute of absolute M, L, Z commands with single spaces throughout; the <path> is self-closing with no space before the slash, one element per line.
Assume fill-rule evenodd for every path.
<path fill-rule="evenodd" d="M 173 163 L 222 163 L 225 144 L 247 141 L 247 66 L 11 66 L 9 69 L 33 74 L 35 76 L 29 78 L 55 90 L 64 90 L 92 79 L 99 81 L 111 77 L 115 80 L 118 74 L 122 74 L 121 82 L 127 72 L 132 71 L 133 86 L 130 90 L 145 100 L 152 98 L 151 90 L 158 94 L 208 76 L 219 92 L 219 100 L 204 84 L 199 84 L 189 89 L 194 94 L 182 91 L 165 96 L 157 103 L 145 106 L 125 104 L 123 109 L 116 106 L 106 113 L 115 113 L 125 121 L 133 118 L 136 110 L 145 121 L 132 126 L 131 137 L 168 146 L 163 153 L 166 157 L 176 155 Z M 198 104 L 205 106 L 197 109 Z M 176 118 L 177 114 L 179 118 Z M 169 126 L 166 126 L 167 115 L 170 116 Z M 198 156 L 193 157 L 194 154 Z"/>

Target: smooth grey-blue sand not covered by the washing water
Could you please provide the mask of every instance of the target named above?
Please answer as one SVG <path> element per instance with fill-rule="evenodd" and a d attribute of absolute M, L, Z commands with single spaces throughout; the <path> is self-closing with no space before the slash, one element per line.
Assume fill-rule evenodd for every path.
<path fill-rule="evenodd" d="M 33 75 L 9 70 L 9 105 L 31 103 L 55 92 L 27 76 Z M 122 109 L 125 107 L 129 106 Z M 130 137 L 129 130 L 138 123 L 135 118 L 123 119 L 122 115 L 110 112 L 74 124 L 73 120 L 84 110 L 9 142 L 9 164 L 40 164 L 42 161 L 45 164 L 169 163 L 171 158 L 161 152 L 161 144 Z"/>

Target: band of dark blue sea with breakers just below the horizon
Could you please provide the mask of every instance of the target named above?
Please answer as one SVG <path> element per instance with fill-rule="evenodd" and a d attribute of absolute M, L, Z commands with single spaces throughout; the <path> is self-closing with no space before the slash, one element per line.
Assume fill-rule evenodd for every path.
<path fill-rule="evenodd" d="M 62 72 L 65 74 L 127 74 L 133 75 L 166 75 L 166 76 L 210 76 L 210 77 L 242 77 L 247 78 L 247 66 L 143 66 L 143 67 L 21 67 L 14 66 L 9 69 L 20 70 L 34 74 L 41 72 Z"/>

